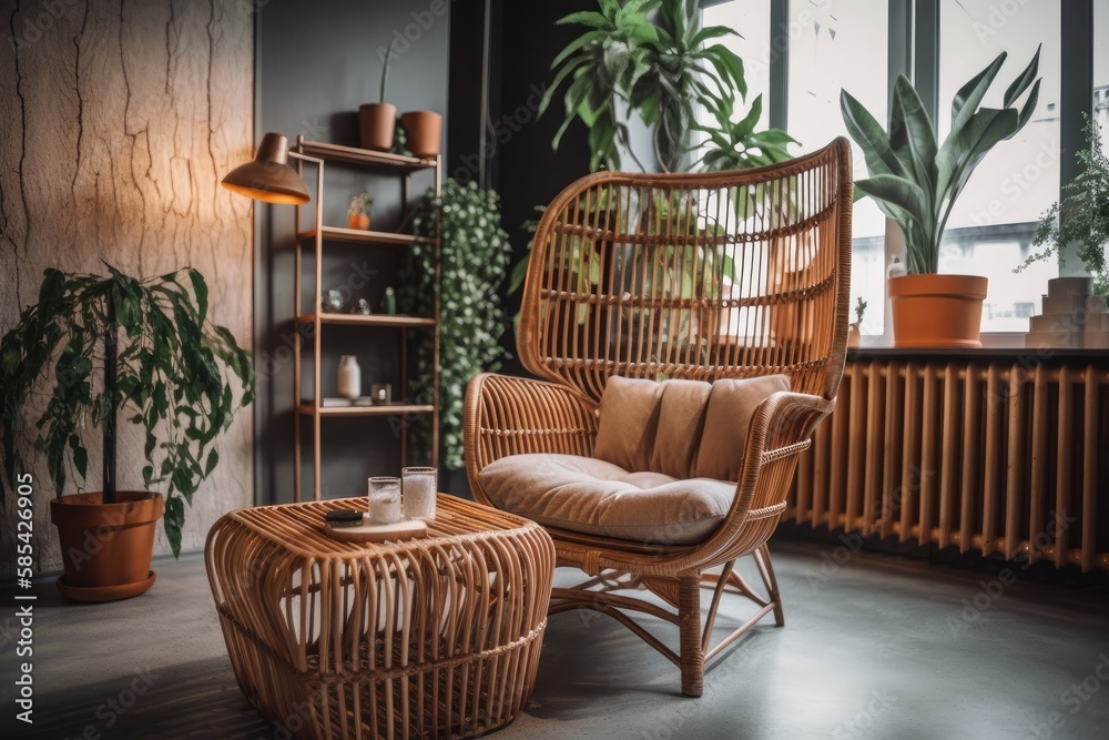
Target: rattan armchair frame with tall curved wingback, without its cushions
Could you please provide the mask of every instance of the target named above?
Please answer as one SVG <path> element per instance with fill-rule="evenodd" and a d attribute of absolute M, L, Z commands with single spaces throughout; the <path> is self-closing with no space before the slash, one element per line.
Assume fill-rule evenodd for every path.
<path fill-rule="evenodd" d="M 536 231 L 517 344 L 525 367 L 541 379 L 484 374 L 467 389 L 467 474 L 477 500 L 496 505 L 480 479 L 495 460 L 593 455 L 601 394 L 613 375 L 788 378 L 790 391 L 755 409 L 745 445 L 734 450 L 742 463 L 730 508 L 700 541 L 547 527 L 558 565 L 588 576 L 556 588 L 549 612 L 611 615 L 681 669 L 685 695 L 701 695 L 705 661 L 760 619 L 773 612 L 784 624 L 766 540 L 785 509 L 797 453 L 835 405 L 851 211 L 851 153 L 842 138 L 754 170 L 586 176 L 554 199 Z M 754 557 L 765 596 L 733 569 L 745 555 Z M 657 598 L 629 595 L 644 588 Z M 702 619 L 703 589 L 711 596 Z M 724 594 L 745 596 L 757 610 L 710 647 Z M 679 649 L 632 619 L 637 611 L 678 626 Z"/>

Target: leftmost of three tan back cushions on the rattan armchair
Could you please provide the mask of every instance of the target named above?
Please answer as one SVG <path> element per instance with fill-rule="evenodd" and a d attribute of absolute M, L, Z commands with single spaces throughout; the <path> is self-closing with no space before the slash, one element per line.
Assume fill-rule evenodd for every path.
<path fill-rule="evenodd" d="M 662 384 L 613 375 L 601 394 L 593 457 L 624 470 L 650 470 L 659 429 Z"/>

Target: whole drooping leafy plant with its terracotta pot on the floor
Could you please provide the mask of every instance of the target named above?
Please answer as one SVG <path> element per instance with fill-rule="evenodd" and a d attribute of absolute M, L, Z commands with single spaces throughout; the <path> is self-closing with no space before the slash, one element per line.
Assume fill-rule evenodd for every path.
<path fill-rule="evenodd" d="M 185 503 L 220 460 L 212 443 L 254 395 L 251 355 L 207 320 L 199 272 L 140 281 L 108 271 L 104 277 L 47 270 L 39 302 L 0 339 L 0 489 L 16 489 L 31 469 L 30 455 L 45 458 L 65 568 L 58 586 L 90 601 L 150 588 L 163 509 L 166 537 L 180 554 Z M 242 385 L 237 402 L 230 375 Z M 143 491 L 116 487 L 123 412 L 145 436 Z M 82 430 L 90 424 L 102 434 L 103 490 L 62 496 L 69 469 L 81 480 L 88 474 Z M 150 493 L 156 485 L 165 486 L 164 496 Z"/>

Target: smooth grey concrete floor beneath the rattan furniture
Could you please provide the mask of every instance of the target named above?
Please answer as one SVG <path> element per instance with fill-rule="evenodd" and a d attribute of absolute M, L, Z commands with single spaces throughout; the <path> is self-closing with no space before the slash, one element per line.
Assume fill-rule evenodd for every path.
<path fill-rule="evenodd" d="M 676 669 L 610 618 L 558 615 L 526 713 L 497 737 L 1109 738 L 1106 588 L 828 544 L 773 551 L 786 627 L 770 621 L 712 665 L 701 699 L 681 697 Z M 115 604 L 37 587 L 33 728 L 12 720 L 18 638 L 4 607 L 0 737 L 287 737 L 235 683 L 202 558 L 155 569 L 150 592 Z M 672 628 L 657 632 L 675 643 Z"/>

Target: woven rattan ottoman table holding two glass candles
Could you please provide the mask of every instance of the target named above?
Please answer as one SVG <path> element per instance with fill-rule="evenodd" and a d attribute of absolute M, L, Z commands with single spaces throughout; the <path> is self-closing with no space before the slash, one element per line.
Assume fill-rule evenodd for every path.
<path fill-rule="evenodd" d="M 429 536 L 342 543 L 330 509 L 231 511 L 205 564 L 235 677 L 295 738 L 471 737 L 531 692 L 554 569 L 532 521 L 446 494 Z"/>

